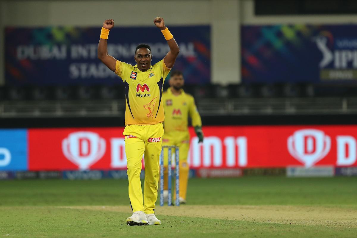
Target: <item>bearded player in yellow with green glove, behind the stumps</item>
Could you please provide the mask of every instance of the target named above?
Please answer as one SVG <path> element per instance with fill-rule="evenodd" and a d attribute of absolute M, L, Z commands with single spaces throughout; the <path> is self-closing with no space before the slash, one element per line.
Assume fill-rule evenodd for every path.
<path fill-rule="evenodd" d="M 203 142 L 202 122 L 198 114 L 195 100 L 185 93 L 183 87 L 183 75 L 180 71 L 171 72 L 170 88 L 163 93 L 165 121 L 163 145 L 178 146 L 180 159 L 180 203 L 186 203 L 188 184 L 187 155 L 190 148 L 190 134 L 188 133 L 188 116 L 191 117 L 192 126 L 195 128 L 198 142 Z M 175 150 L 173 150 L 175 155 Z M 164 197 L 167 197 L 167 149 L 164 151 Z"/>

